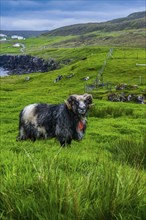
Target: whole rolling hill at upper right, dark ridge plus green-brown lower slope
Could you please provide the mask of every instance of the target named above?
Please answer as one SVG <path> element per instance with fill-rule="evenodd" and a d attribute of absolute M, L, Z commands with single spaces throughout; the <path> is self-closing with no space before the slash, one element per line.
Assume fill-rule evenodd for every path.
<path fill-rule="evenodd" d="M 75 24 L 42 34 L 45 37 L 64 37 L 53 47 L 131 46 L 146 47 L 146 12 L 136 12 L 125 18 L 102 23 Z M 68 37 L 68 38 L 66 38 Z"/>

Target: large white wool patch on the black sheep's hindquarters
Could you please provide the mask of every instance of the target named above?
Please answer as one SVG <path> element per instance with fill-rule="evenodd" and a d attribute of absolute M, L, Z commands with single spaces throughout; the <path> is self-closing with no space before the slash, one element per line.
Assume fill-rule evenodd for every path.
<path fill-rule="evenodd" d="M 23 120 L 36 124 L 36 116 L 34 115 L 34 110 L 37 104 L 30 104 L 26 106 L 23 110 Z"/>

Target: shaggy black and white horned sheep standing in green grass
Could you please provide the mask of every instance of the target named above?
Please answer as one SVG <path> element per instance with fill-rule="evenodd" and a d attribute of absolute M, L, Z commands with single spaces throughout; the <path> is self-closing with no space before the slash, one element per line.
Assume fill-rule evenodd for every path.
<path fill-rule="evenodd" d="M 30 104 L 20 113 L 18 140 L 56 137 L 61 146 L 81 140 L 92 95 L 71 95 L 64 104 Z"/>

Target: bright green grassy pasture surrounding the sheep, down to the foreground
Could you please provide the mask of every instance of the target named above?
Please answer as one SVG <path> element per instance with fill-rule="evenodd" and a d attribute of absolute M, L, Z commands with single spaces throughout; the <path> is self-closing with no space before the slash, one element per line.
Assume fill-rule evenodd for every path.
<path fill-rule="evenodd" d="M 145 67 L 136 67 L 145 62 L 143 49 L 114 48 L 104 71 L 104 82 L 113 86 L 110 91 L 90 91 L 95 105 L 81 142 L 66 148 L 54 139 L 16 142 L 20 110 L 30 103 L 62 103 L 70 94 L 84 93 L 82 78 L 90 76 L 89 84 L 95 80 L 109 49 L 34 46 L 31 55 L 69 58 L 71 63 L 31 74 L 29 81 L 26 75 L 1 77 L 0 219 L 146 219 L 145 105 L 107 101 L 117 83 L 137 84 L 137 90 L 126 92 L 145 95 Z M 66 78 L 71 73 L 74 77 Z M 58 75 L 63 79 L 54 83 Z"/>

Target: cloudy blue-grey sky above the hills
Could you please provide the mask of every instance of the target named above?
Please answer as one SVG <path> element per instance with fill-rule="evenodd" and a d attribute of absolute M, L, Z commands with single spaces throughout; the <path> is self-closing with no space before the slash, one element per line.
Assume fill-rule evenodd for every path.
<path fill-rule="evenodd" d="M 52 30 L 146 10 L 145 0 L 0 0 L 2 30 Z"/>

